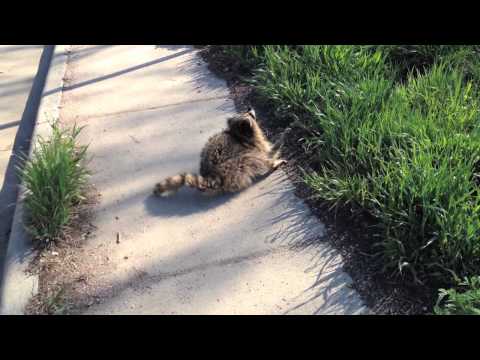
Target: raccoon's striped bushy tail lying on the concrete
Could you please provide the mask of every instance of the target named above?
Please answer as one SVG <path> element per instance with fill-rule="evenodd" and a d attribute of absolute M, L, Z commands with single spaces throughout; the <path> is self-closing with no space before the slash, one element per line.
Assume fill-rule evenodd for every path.
<path fill-rule="evenodd" d="M 216 191 L 220 188 L 220 182 L 201 175 L 183 173 L 159 182 L 155 185 L 153 193 L 156 196 L 168 196 L 177 192 L 182 186 L 190 186 L 200 191 Z"/>

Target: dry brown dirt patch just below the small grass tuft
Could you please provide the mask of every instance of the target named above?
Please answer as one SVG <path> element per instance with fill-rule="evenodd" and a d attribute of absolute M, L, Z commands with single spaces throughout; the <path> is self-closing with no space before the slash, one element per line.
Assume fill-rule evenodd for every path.
<path fill-rule="evenodd" d="M 100 194 L 90 187 L 87 199 L 78 205 L 62 239 L 36 249 L 37 256 L 28 272 L 38 275 L 39 289 L 27 304 L 25 314 L 67 314 L 72 309 L 88 307 L 100 301 L 96 294 L 105 284 L 99 284 L 89 274 L 97 274 L 106 268 L 108 257 L 101 251 L 87 253 L 83 246 L 95 236 L 93 208 L 99 197 Z M 89 257 L 91 260 L 85 261 Z"/>

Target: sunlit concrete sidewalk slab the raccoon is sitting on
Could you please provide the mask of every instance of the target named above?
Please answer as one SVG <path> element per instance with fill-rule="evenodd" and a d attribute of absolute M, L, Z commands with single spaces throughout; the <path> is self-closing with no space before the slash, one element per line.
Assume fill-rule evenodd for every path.
<path fill-rule="evenodd" d="M 197 171 L 202 146 L 235 112 L 196 50 L 71 50 L 61 119 L 87 125 L 82 141 L 102 195 L 79 264 L 99 303 L 80 313 L 367 311 L 282 171 L 233 196 L 151 195 L 156 181 Z"/>

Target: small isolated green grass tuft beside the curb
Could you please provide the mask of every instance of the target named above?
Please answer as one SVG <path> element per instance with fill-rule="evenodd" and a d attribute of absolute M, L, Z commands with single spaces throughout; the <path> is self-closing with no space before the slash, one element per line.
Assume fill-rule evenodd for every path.
<path fill-rule="evenodd" d="M 51 137 L 39 137 L 31 159 L 19 169 L 26 188 L 26 227 L 42 244 L 62 237 L 84 199 L 88 176 L 87 147 L 77 144 L 82 128 L 51 126 Z"/>

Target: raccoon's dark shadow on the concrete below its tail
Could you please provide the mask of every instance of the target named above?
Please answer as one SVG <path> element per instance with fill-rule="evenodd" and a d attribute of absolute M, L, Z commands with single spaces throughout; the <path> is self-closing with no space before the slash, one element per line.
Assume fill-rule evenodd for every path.
<path fill-rule="evenodd" d="M 151 194 L 144 202 L 145 208 L 153 216 L 188 216 L 214 209 L 237 195 L 206 195 L 198 190 L 184 187 L 176 194 L 167 197 L 157 197 Z"/>

